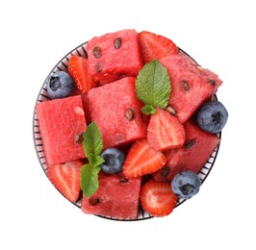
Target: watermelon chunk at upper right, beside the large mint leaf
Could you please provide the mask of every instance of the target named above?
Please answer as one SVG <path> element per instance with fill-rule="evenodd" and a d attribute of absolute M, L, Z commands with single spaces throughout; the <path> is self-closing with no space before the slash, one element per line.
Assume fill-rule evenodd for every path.
<path fill-rule="evenodd" d="M 222 81 L 209 69 L 202 68 L 182 52 L 160 60 L 166 66 L 171 93 L 168 105 L 176 112 L 181 123 L 216 93 Z"/>

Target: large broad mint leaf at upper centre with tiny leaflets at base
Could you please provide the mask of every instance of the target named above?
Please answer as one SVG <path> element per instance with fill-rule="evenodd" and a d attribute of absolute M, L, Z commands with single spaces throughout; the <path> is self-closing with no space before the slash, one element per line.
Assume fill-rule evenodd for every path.
<path fill-rule="evenodd" d="M 145 104 L 141 112 L 154 113 L 152 107 L 166 109 L 171 83 L 166 67 L 158 60 L 146 63 L 142 67 L 135 84 L 137 97 Z"/>

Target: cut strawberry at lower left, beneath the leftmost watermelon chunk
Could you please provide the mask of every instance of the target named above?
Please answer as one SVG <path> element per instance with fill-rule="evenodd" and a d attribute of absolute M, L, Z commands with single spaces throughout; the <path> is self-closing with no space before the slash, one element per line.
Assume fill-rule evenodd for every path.
<path fill-rule="evenodd" d="M 76 202 L 80 194 L 82 161 L 49 165 L 47 175 L 51 183 L 67 200 Z"/>

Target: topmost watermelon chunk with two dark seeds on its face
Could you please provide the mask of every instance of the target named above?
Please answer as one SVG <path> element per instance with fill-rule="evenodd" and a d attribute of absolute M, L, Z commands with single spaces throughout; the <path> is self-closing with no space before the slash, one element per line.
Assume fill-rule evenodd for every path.
<path fill-rule="evenodd" d="M 124 76 L 137 76 L 142 67 L 136 30 L 123 30 L 92 38 L 87 51 L 89 73 L 101 85 Z"/>

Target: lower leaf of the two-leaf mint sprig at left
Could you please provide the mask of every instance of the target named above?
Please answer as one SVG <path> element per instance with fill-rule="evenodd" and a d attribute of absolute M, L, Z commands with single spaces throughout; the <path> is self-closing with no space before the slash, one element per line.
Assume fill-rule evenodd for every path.
<path fill-rule="evenodd" d="M 81 189 L 87 198 L 99 188 L 98 173 L 100 166 L 93 166 L 90 163 L 81 168 Z"/>

